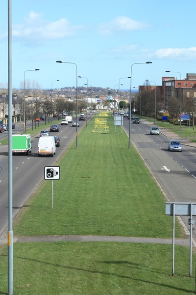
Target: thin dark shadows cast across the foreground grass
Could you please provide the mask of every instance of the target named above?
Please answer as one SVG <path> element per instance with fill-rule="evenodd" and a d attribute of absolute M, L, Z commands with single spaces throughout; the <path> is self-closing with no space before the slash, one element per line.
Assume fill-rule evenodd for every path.
<path fill-rule="evenodd" d="M 0 255 L 0 256 L 1 257 L 7 257 L 6 255 Z M 36 260 L 36 259 L 29 259 L 29 258 L 26 258 L 26 257 L 15 256 L 15 258 L 23 259 L 23 260 L 29 260 L 29 261 L 37 262 L 39 264 L 42 263 L 43 265 L 58 266 L 58 267 L 66 268 L 66 269 L 79 270 L 79 271 L 84 271 L 84 272 L 89 272 L 89 273 L 98 273 L 98 274 L 109 275 L 109 276 L 117 276 L 117 277 L 120 277 L 120 278 L 130 279 L 130 280 L 136 281 L 136 282 L 143 282 L 143 283 L 152 284 L 152 285 L 155 285 L 155 286 L 161 286 L 161 287 L 170 288 L 170 289 L 173 289 L 173 290 L 176 290 L 176 291 L 182 291 L 182 292 L 185 292 L 186 294 L 188 294 L 188 293 L 193 294 L 193 291 L 191 291 L 191 290 L 173 287 L 173 286 L 168 285 L 168 284 L 157 283 L 157 282 L 152 282 L 152 281 L 147 281 L 147 280 L 141 280 L 141 279 L 133 278 L 133 276 L 119 275 L 119 274 L 112 273 L 112 272 L 105 272 L 105 271 L 98 271 L 98 270 L 90 270 L 90 269 L 85 269 L 85 268 L 81 268 L 81 267 L 78 268 L 78 267 L 71 267 L 71 266 L 61 266 L 61 265 L 58 265 L 58 264 L 52 264 L 52 263 L 49 263 L 49 262 L 42 262 L 42 261 L 39 261 L 39 260 Z M 103 262 L 99 262 L 99 263 L 103 263 L 103 264 L 129 264 L 130 266 L 134 265 L 134 266 L 137 266 L 137 267 L 142 267 L 141 265 L 131 263 L 129 261 L 110 261 L 110 262 L 104 262 L 103 261 Z M 145 266 L 143 266 L 143 267 L 145 267 Z M 7 294 L 7 293 L 2 293 L 1 292 L 0 294 Z"/>

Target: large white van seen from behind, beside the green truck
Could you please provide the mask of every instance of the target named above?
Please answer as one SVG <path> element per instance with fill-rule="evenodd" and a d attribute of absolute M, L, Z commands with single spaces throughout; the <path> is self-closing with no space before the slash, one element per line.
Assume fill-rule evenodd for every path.
<path fill-rule="evenodd" d="M 41 155 L 47 156 L 50 155 L 53 157 L 56 153 L 56 146 L 53 136 L 42 136 L 38 142 L 38 156 Z"/>

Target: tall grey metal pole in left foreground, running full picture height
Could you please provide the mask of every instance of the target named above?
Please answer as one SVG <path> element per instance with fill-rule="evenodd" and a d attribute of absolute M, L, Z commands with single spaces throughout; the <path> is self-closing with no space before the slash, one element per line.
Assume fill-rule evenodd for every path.
<path fill-rule="evenodd" d="M 8 0 L 8 295 L 13 294 L 13 177 L 12 177 L 12 1 Z"/>

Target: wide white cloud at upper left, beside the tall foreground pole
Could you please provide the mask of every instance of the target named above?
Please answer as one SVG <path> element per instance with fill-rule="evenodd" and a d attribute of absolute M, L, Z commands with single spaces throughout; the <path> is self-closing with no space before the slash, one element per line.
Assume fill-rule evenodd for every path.
<path fill-rule="evenodd" d="M 42 14 L 31 11 L 24 22 L 13 25 L 12 36 L 27 42 L 46 42 L 65 37 L 72 37 L 83 26 L 72 26 L 66 18 L 55 22 L 44 20 Z"/>

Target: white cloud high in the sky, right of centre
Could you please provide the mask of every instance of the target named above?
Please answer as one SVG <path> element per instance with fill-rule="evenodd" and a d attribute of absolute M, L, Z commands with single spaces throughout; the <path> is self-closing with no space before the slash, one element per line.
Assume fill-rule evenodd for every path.
<path fill-rule="evenodd" d="M 118 16 L 108 23 L 102 23 L 98 29 L 101 34 L 110 35 L 116 32 L 130 32 L 134 30 L 147 29 L 147 23 L 138 22 L 126 16 Z"/>

